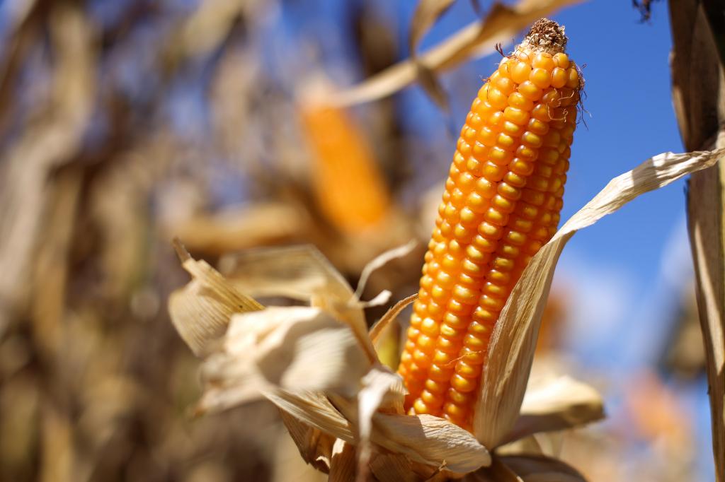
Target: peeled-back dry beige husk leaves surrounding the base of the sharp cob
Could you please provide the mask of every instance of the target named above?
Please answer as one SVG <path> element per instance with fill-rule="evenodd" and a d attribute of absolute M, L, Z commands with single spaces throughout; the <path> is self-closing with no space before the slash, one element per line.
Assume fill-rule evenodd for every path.
<path fill-rule="evenodd" d="M 185 255 L 184 265 L 194 274 L 192 284 L 204 289 L 178 292 L 170 303 L 171 316 L 182 333 L 190 331 L 189 326 L 212 324 L 212 329 L 193 329 L 209 334 L 194 339 L 196 351 L 209 353 L 202 365 L 205 394 L 198 409 L 223 410 L 265 397 L 283 413 L 305 461 L 336 481 L 507 481 L 534 474 L 547 474 L 546 480 L 583 480 L 558 460 L 513 455 L 513 445 L 503 449 L 539 431 L 602 418 L 602 399 L 586 384 L 566 377 L 539 386 L 529 383 L 537 332 L 561 250 L 578 229 L 642 193 L 712 166 L 724 153 L 725 149 L 663 153 L 647 159 L 612 179 L 534 255 L 494 330 L 472 434 L 442 418 L 404 413 L 402 379 L 378 362 L 367 331 L 361 331 L 363 304 L 314 248 L 289 252 L 289 266 L 297 273 L 291 284 L 297 297 L 306 297 L 309 308 L 239 305 L 234 300 L 249 297 L 208 265 Z M 256 256 L 262 266 L 257 276 L 261 279 L 269 269 L 271 278 L 279 280 L 286 256 L 279 250 L 272 255 L 258 250 Z M 254 257 L 247 256 L 248 266 L 254 266 Z M 279 282 L 279 294 L 289 293 L 289 284 Z M 228 295 L 233 292 L 237 294 Z M 179 303 L 179 297 L 188 301 Z M 215 320 L 189 306 L 239 314 L 229 317 L 226 333 L 220 334 Z M 386 323 L 393 318 L 386 317 Z M 307 364 L 309 373 L 304 380 L 297 375 L 301 364 Z M 506 455 L 497 456 L 498 449 Z"/>

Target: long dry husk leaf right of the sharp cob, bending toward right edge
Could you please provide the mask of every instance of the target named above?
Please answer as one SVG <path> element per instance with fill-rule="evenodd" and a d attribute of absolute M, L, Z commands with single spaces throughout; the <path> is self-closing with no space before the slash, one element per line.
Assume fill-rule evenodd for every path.
<path fill-rule="evenodd" d="M 486 370 L 473 420 L 476 438 L 497 447 L 513 429 L 534 358 L 539 325 L 561 250 L 573 234 L 617 211 L 630 200 L 712 166 L 725 149 L 663 153 L 612 179 L 534 255 L 501 312 L 489 344 Z"/>

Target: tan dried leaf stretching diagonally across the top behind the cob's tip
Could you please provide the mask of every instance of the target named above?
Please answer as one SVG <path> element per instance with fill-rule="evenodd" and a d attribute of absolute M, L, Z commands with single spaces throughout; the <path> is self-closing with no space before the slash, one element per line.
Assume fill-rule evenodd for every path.
<path fill-rule="evenodd" d="M 332 94 L 328 97 L 328 102 L 338 106 L 348 106 L 390 96 L 418 78 L 419 66 L 422 65 L 429 72 L 442 72 L 468 59 L 490 54 L 497 43 L 512 41 L 534 20 L 547 17 L 557 9 L 580 1 L 521 0 L 510 6 L 497 2 L 482 22 L 476 21 L 466 25 L 415 60 L 406 59 L 359 85 Z"/>

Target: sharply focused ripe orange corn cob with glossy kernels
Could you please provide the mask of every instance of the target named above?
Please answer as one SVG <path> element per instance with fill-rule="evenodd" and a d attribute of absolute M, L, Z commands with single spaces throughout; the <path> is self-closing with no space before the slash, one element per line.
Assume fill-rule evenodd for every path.
<path fill-rule="evenodd" d="M 565 45 L 563 28 L 537 21 L 473 100 L 398 369 L 411 414 L 470 430 L 494 324 L 556 232 L 583 85 Z"/>

